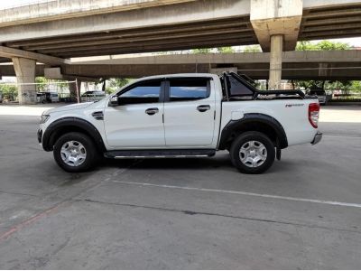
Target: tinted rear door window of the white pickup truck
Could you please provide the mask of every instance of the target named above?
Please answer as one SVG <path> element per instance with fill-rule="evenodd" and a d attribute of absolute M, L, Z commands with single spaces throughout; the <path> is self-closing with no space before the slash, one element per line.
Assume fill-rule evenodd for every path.
<path fill-rule="evenodd" d="M 209 97 L 208 79 L 171 79 L 170 100 L 185 101 Z"/>

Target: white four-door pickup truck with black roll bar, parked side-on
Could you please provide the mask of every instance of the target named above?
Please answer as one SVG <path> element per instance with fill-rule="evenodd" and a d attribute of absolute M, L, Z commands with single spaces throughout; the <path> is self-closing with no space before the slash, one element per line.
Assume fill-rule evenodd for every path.
<path fill-rule="evenodd" d="M 184 158 L 227 150 L 240 172 L 264 173 L 283 148 L 319 143 L 318 120 L 318 99 L 301 91 L 260 91 L 232 72 L 173 74 L 45 111 L 38 140 L 68 172 L 90 169 L 100 155 Z"/>

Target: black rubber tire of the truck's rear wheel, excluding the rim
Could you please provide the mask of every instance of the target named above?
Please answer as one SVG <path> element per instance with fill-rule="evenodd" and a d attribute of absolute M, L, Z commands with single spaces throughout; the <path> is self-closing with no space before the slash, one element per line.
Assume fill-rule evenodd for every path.
<path fill-rule="evenodd" d="M 257 141 L 263 144 L 266 149 L 266 154 L 265 154 L 266 158 L 263 164 L 260 164 L 259 166 L 255 166 L 255 167 L 247 166 L 241 160 L 241 154 L 240 154 L 241 147 L 250 141 Z M 251 131 L 251 132 L 245 132 L 244 134 L 236 137 L 235 141 L 231 145 L 229 154 L 231 156 L 232 164 L 234 164 L 241 173 L 260 174 L 268 170 L 273 164 L 275 157 L 275 150 L 274 150 L 273 142 L 267 135 L 264 135 L 260 132 Z"/>

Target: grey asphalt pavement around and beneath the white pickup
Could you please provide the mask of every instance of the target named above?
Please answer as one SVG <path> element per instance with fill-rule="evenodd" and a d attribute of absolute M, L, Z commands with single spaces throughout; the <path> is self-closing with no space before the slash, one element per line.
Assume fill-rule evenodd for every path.
<path fill-rule="evenodd" d="M 42 108 L 0 106 L 0 268 L 360 268 L 361 107 L 322 109 L 319 145 L 245 175 L 227 152 L 65 173 Z"/>

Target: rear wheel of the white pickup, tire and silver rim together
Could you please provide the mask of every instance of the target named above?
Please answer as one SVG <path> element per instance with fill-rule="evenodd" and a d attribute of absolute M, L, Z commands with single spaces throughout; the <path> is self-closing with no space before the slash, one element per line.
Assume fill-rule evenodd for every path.
<path fill-rule="evenodd" d="M 264 173 L 274 162 L 275 150 L 271 139 L 260 132 L 245 132 L 231 145 L 232 164 L 241 173 Z"/>

